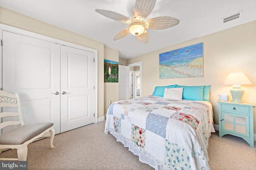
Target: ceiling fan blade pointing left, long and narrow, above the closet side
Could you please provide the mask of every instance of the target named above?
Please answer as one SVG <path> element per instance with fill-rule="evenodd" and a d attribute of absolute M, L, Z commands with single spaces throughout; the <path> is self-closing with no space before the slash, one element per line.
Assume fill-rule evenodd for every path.
<path fill-rule="evenodd" d="M 117 12 L 114 12 L 114 11 L 102 10 L 102 9 L 96 9 L 95 11 L 100 13 L 101 15 L 103 15 L 105 17 L 111 18 L 111 19 L 116 20 L 116 21 L 121 21 L 121 22 L 124 22 L 124 23 L 129 23 L 131 21 L 130 18 L 128 18 L 128 17 L 126 17 L 122 14 L 119 14 Z"/>

